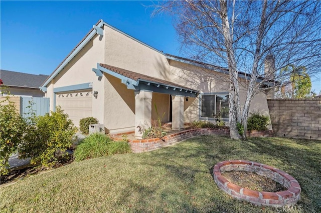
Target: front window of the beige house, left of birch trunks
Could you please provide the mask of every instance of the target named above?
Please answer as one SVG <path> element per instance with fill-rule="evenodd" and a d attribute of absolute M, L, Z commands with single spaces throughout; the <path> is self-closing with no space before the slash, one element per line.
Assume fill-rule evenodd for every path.
<path fill-rule="evenodd" d="M 222 118 L 229 118 L 229 94 L 203 94 L 201 100 L 201 117 L 213 117 L 221 112 Z"/>

